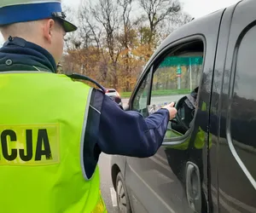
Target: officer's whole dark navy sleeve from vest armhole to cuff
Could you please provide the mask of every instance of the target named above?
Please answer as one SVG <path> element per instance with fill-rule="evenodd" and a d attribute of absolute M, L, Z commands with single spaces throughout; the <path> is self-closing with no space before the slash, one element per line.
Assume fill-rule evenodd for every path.
<path fill-rule="evenodd" d="M 84 169 L 92 176 L 100 153 L 147 158 L 161 146 L 169 122 L 169 112 L 143 118 L 139 112 L 124 111 L 101 91 L 90 98 L 84 135 Z"/>

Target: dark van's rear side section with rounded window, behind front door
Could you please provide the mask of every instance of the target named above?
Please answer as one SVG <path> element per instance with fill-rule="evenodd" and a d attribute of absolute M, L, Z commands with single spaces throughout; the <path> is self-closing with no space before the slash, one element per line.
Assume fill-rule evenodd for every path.
<path fill-rule="evenodd" d="M 218 199 L 212 212 L 256 212 L 255 9 L 254 0 L 228 9 L 219 35 L 210 130 L 211 193 Z"/>

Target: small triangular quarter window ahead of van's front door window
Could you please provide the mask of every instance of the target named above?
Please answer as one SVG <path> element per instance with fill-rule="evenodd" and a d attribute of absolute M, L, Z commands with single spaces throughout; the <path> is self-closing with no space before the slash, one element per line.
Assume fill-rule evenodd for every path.
<path fill-rule="evenodd" d="M 150 73 L 144 77 L 143 82 L 140 84 L 137 93 L 134 96 L 131 109 L 142 113 L 143 117 L 148 116 L 148 92 L 150 88 Z"/>

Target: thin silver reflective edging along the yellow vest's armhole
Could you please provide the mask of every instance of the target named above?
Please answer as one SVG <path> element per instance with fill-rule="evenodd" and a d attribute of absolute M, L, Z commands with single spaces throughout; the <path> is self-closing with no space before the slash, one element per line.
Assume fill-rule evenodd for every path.
<path fill-rule="evenodd" d="M 90 178 L 88 178 L 88 176 L 86 175 L 86 171 L 84 170 L 83 156 L 84 156 L 84 136 L 85 136 L 85 130 L 86 130 L 86 125 L 87 125 L 88 112 L 89 112 L 89 108 L 90 108 L 91 93 L 92 93 L 92 88 L 90 88 L 89 94 L 87 97 L 87 103 L 86 103 L 86 107 L 85 107 L 85 111 L 84 111 L 84 124 L 83 124 L 83 130 L 82 130 L 81 141 L 80 141 L 80 164 L 81 164 L 81 168 L 83 171 L 84 179 L 87 181 L 90 180 Z"/>

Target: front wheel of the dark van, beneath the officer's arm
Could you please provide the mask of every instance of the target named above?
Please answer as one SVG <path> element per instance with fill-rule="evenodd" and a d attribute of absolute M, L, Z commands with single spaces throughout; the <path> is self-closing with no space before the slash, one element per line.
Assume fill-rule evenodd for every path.
<path fill-rule="evenodd" d="M 116 197 L 120 213 L 131 213 L 131 205 L 121 172 L 116 177 Z"/>

